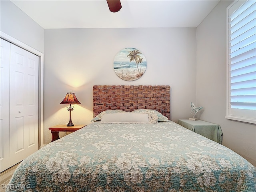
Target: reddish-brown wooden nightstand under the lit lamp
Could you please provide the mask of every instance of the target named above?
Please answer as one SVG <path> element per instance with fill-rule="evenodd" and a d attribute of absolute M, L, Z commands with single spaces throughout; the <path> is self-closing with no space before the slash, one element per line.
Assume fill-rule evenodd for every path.
<path fill-rule="evenodd" d="M 85 127 L 86 125 L 74 125 L 74 126 L 66 126 L 66 125 L 56 125 L 53 127 L 49 127 L 49 129 L 51 130 L 52 133 L 52 141 L 55 141 L 57 139 L 59 139 L 59 132 L 74 132 L 77 131 L 83 127 Z"/>

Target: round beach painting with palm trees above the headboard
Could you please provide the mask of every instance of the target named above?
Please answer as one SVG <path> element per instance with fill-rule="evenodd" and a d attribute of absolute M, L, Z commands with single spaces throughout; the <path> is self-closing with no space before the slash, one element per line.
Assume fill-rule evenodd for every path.
<path fill-rule="evenodd" d="M 124 48 L 114 58 L 114 70 L 118 77 L 126 81 L 140 78 L 146 71 L 145 56 L 136 48 Z"/>

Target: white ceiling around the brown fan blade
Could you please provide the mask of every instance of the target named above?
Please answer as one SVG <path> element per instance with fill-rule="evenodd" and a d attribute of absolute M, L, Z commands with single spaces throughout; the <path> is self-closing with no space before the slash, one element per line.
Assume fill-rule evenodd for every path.
<path fill-rule="evenodd" d="M 219 0 L 11 0 L 44 29 L 197 27 Z"/>

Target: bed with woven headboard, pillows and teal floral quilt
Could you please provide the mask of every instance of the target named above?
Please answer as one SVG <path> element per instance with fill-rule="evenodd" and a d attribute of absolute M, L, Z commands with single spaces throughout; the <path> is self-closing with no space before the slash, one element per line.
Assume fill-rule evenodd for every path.
<path fill-rule="evenodd" d="M 22 161 L 7 192 L 256 191 L 256 168 L 170 120 L 170 86 L 94 86 L 93 119 Z"/>

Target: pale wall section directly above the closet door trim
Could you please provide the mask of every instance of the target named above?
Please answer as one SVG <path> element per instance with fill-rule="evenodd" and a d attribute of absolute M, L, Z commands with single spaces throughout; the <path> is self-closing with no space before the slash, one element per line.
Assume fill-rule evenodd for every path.
<path fill-rule="evenodd" d="M 44 29 L 9 0 L 0 1 L 0 31 L 44 53 Z"/>

